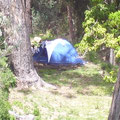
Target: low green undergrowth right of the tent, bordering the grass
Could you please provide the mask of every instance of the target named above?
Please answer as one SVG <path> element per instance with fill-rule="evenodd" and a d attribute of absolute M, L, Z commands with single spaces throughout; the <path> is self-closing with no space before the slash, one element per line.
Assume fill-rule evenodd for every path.
<path fill-rule="evenodd" d="M 103 71 L 103 80 L 108 83 L 115 83 L 117 80 L 118 65 L 111 65 L 109 62 L 105 62 L 100 58 L 97 52 L 90 51 L 86 55 L 86 59 L 94 64 L 100 65 Z"/>

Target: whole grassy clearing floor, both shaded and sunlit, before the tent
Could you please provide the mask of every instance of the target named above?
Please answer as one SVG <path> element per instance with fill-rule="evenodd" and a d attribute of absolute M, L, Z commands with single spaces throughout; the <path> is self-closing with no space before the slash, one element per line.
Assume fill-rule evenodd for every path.
<path fill-rule="evenodd" d="M 36 120 L 107 120 L 113 84 L 103 81 L 99 65 L 76 69 L 38 69 L 57 90 L 10 90 L 12 109 Z"/>

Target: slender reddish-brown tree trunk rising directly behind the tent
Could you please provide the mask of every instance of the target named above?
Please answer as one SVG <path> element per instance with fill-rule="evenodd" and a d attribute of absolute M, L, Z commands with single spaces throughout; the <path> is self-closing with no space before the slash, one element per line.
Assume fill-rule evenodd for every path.
<path fill-rule="evenodd" d="M 72 21 L 72 11 L 71 7 L 67 6 L 67 12 L 68 12 L 68 22 L 69 22 L 69 36 L 71 42 L 74 43 L 74 27 L 73 27 L 73 21 Z"/>

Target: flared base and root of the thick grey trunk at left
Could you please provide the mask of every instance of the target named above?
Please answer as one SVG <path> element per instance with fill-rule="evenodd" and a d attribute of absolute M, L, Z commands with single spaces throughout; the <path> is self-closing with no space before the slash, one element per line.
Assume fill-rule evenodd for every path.
<path fill-rule="evenodd" d="M 17 79 L 17 88 L 19 90 L 28 89 L 31 87 L 34 89 L 41 89 L 42 87 L 48 89 L 57 89 L 56 86 L 42 80 L 35 69 L 31 70 L 29 74 L 21 75 Z"/>

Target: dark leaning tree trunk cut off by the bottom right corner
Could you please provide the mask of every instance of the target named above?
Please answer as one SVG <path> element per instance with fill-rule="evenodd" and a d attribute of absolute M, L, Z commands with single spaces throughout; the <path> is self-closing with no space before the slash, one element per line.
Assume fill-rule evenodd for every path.
<path fill-rule="evenodd" d="M 120 64 L 108 120 L 120 120 Z"/>

